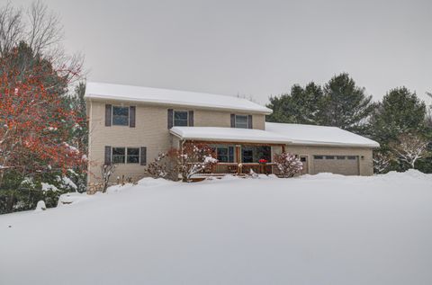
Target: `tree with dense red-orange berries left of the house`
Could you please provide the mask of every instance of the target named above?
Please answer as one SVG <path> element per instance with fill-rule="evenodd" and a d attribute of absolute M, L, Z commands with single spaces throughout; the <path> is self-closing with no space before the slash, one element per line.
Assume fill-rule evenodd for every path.
<path fill-rule="evenodd" d="M 67 143 L 70 128 L 82 122 L 61 98 L 79 70 L 54 69 L 27 49 L 20 46 L 0 58 L 0 186 L 11 169 L 66 172 L 85 159 Z"/>

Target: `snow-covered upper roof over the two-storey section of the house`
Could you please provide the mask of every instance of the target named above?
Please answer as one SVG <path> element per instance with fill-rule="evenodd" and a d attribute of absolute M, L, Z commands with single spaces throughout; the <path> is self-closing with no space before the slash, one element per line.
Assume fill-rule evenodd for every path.
<path fill-rule="evenodd" d="M 85 98 L 146 102 L 202 109 L 245 111 L 270 114 L 272 110 L 247 99 L 227 95 L 158 89 L 130 85 L 87 82 Z"/>

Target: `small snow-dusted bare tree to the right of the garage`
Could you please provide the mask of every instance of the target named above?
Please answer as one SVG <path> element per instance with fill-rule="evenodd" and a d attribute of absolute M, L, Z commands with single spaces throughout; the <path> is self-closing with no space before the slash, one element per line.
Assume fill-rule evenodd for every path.
<path fill-rule="evenodd" d="M 393 142 L 392 147 L 396 156 L 414 168 L 420 158 L 428 156 L 428 140 L 416 134 L 402 134 L 398 142 Z"/>

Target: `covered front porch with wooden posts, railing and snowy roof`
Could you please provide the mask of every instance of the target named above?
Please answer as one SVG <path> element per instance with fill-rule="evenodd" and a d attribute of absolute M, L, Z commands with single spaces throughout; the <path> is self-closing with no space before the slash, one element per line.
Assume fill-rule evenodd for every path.
<path fill-rule="evenodd" d="M 205 144 L 211 147 L 218 163 L 202 175 L 277 174 L 273 157 L 285 151 L 286 138 L 261 129 L 175 127 L 178 144 Z"/>

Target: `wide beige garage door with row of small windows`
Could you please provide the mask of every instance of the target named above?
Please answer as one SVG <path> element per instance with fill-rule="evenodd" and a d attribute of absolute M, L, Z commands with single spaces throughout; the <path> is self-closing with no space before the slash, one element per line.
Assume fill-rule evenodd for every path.
<path fill-rule="evenodd" d="M 313 156 L 311 173 L 359 175 L 359 158 L 358 156 Z"/>

